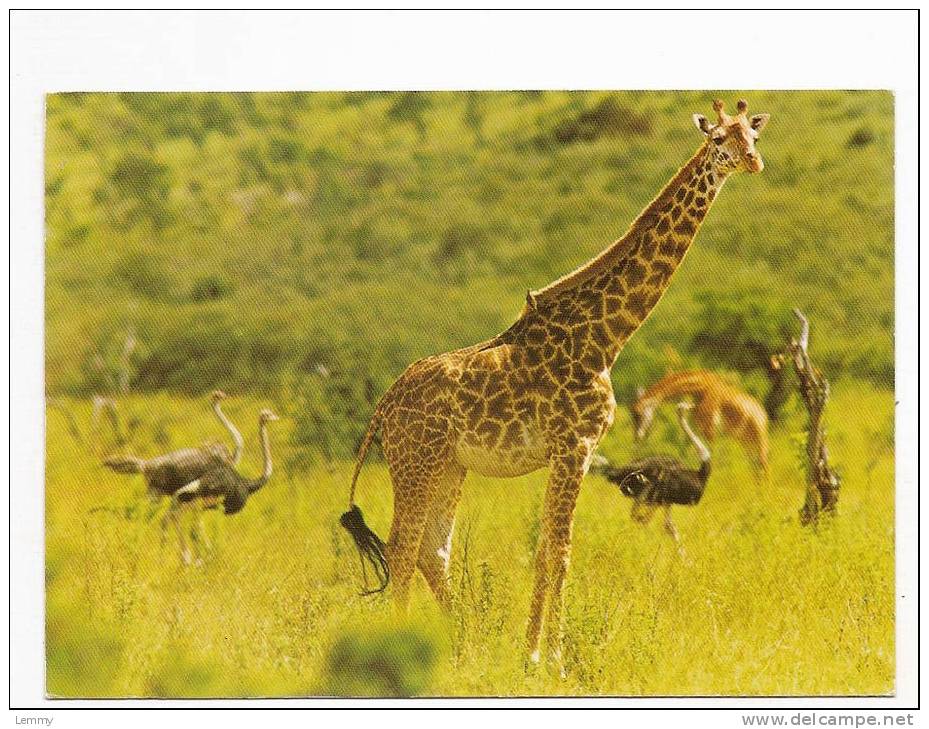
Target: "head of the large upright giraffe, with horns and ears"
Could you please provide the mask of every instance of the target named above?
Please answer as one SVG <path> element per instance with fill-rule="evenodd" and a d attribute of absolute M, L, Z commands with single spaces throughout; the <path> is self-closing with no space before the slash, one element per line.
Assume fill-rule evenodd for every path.
<path fill-rule="evenodd" d="M 723 102 L 717 99 L 713 102 L 716 124 L 710 124 L 702 114 L 694 114 L 694 124 L 706 135 L 706 143 L 712 150 L 713 166 L 719 172 L 761 172 L 764 162 L 755 145 L 770 115 L 748 116 L 748 102 L 744 99 L 739 100 L 737 108 L 738 113 L 729 116 Z"/>

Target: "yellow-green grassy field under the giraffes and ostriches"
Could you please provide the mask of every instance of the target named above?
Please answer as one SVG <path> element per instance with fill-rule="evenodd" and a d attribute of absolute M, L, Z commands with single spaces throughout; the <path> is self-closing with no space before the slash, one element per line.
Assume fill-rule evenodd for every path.
<path fill-rule="evenodd" d="M 258 402 L 232 402 L 248 423 Z M 89 407 L 68 403 L 79 427 Z M 134 398 L 141 450 L 222 437 L 202 401 Z M 656 523 L 589 477 L 567 585 L 567 679 L 526 672 L 522 637 L 544 472 L 469 476 L 452 573 L 456 606 L 438 611 L 418 582 L 409 619 L 358 596 L 357 556 L 337 525 L 350 463 L 279 468 L 240 515 L 206 515 L 213 556 L 182 567 L 145 518 L 138 477 L 98 465 L 57 411 L 48 421 L 48 690 L 58 696 L 309 694 L 886 694 L 894 688 L 893 412 L 889 392 L 836 383 L 832 454 L 838 517 L 798 525 L 803 501 L 793 407 L 774 435 L 771 483 L 757 486 L 720 442 L 703 502 L 677 510 L 686 557 Z M 286 419 L 273 432 L 288 458 Z M 604 451 L 631 454 L 620 413 Z M 668 428 L 668 433 L 673 431 Z M 649 448 L 677 452 L 660 429 Z M 257 472 L 250 434 L 244 470 Z M 686 452 L 681 450 L 682 453 Z M 687 454 L 692 459 L 692 454 Z M 377 460 L 359 500 L 382 535 L 391 492 Z M 120 513 L 87 512 L 98 505 Z"/>

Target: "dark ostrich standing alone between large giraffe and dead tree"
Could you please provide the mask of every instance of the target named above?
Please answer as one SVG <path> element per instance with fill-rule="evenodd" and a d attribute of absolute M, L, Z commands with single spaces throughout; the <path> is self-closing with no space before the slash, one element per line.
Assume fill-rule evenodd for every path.
<path fill-rule="evenodd" d="M 643 458 L 622 467 L 613 466 L 602 456 L 597 456 L 591 468 L 610 483 L 619 486 L 624 496 L 634 500 L 632 518 L 638 523 L 647 524 L 655 510 L 662 507 L 665 531 L 674 539 L 681 552 L 681 538 L 671 521 L 671 507 L 675 504 L 693 506 L 698 503 L 710 477 L 710 451 L 687 422 L 687 411 L 691 407 L 690 403 L 678 403 L 677 417 L 700 457 L 700 468 L 697 470 L 687 468 L 671 456 Z"/>

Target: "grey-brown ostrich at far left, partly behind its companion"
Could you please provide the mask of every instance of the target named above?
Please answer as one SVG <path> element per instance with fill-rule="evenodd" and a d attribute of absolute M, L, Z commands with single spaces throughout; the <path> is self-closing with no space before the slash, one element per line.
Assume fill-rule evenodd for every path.
<path fill-rule="evenodd" d="M 173 496 L 191 481 L 223 464 L 230 467 L 238 465 L 242 458 L 245 441 L 242 439 L 242 434 L 222 411 L 221 404 L 226 398 L 226 393 L 221 390 L 214 390 L 210 394 L 210 403 L 217 420 L 222 423 L 232 437 L 234 444 L 232 451 L 222 443 L 208 442 L 199 448 L 182 448 L 148 459 L 131 455 L 110 456 L 103 461 L 103 465 L 116 471 L 116 473 L 141 473 L 145 478 L 149 496 L 155 500 L 165 496 Z M 178 534 L 180 534 L 179 514 L 177 508 L 174 505 L 172 507 L 161 521 L 162 533 L 167 526 L 167 522 L 171 521 Z M 196 539 L 201 542 L 206 541 L 206 533 L 200 519 L 197 520 L 196 524 Z M 183 542 L 184 539 L 181 538 L 182 548 Z M 185 561 L 189 560 L 188 553 L 185 552 L 183 556 Z"/>

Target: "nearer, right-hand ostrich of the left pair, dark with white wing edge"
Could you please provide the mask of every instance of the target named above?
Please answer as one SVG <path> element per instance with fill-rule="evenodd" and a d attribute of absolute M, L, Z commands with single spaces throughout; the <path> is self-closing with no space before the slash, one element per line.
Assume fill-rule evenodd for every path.
<path fill-rule="evenodd" d="M 172 496 L 171 511 L 197 500 L 210 509 L 216 508 L 221 502 L 223 513 L 226 515 L 235 514 L 245 508 L 248 497 L 271 478 L 271 441 L 268 438 L 268 423 L 277 419 L 277 415 L 268 409 L 262 410 L 258 415 L 258 435 L 264 457 L 264 469 L 258 478 L 246 478 L 236 471 L 232 464 L 221 462 L 199 478 L 178 489 Z M 175 524 L 177 524 L 176 520 Z M 191 553 L 185 544 L 180 528 L 178 528 L 178 537 L 181 540 L 183 559 L 189 563 Z"/>

